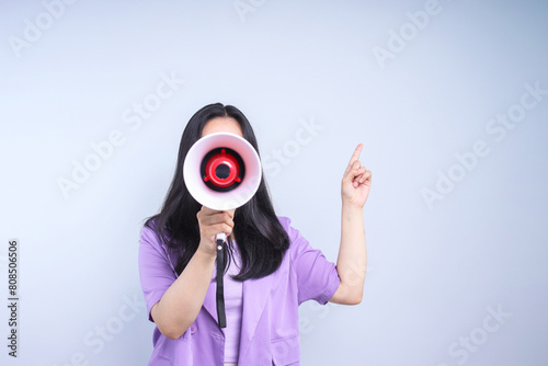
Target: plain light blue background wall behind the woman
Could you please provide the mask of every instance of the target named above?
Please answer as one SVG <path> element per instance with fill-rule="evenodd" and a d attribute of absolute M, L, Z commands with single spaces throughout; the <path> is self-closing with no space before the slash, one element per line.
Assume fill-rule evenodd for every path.
<path fill-rule="evenodd" d="M 1 294 L 9 239 L 20 240 L 21 270 L 19 357 L 3 345 L 2 306 L 1 364 L 147 363 L 139 230 L 163 201 L 186 122 L 222 102 L 254 126 L 278 214 L 331 261 L 342 172 L 365 145 L 364 301 L 301 306 L 302 365 L 546 365 L 548 95 L 500 141 L 486 127 L 525 84 L 548 90 L 547 3 L 439 0 L 384 67 L 373 50 L 412 31 L 407 13 L 425 1 L 239 3 L 253 11 L 81 0 L 19 57 L 13 37 L 24 39 L 25 20 L 47 23 L 46 8 L 0 3 Z M 123 114 L 171 73 L 184 84 L 132 130 Z M 64 197 L 57 181 L 113 130 L 124 142 Z M 489 153 L 429 208 L 423 188 L 457 172 L 455 155 L 478 140 Z M 498 308 L 506 318 L 489 318 L 499 327 L 487 332 Z M 115 332 L 100 341 L 107 325 Z"/>

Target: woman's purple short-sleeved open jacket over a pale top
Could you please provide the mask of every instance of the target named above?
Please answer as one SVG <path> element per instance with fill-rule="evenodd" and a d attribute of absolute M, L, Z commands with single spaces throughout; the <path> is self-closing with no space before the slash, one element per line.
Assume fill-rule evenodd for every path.
<path fill-rule="evenodd" d="M 286 217 L 278 217 L 290 244 L 279 268 L 273 274 L 244 281 L 241 285 L 241 321 L 238 366 L 299 365 L 298 306 L 313 299 L 327 304 L 340 285 L 336 267 L 321 251 L 313 249 Z M 148 317 L 163 293 L 176 279 L 176 259 L 148 227 L 141 230 L 139 274 Z M 230 287 L 229 293 L 235 288 Z M 238 289 L 236 289 L 238 290 Z M 216 283 L 207 288 L 194 323 L 179 338 L 170 340 L 153 331 L 152 366 L 222 366 L 225 350 L 233 350 L 233 338 L 217 323 Z M 240 306 L 237 306 L 240 307 Z M 228 307 L 227 307 L 228 309 Z M 231 313 L 231 312 L 230 312 Z M 233 320 L 227 311 L 228 325 Z M 227 343 L 228 342 L 228 343 Z M 227 358 L 228 361 L 228 358 Z"/>

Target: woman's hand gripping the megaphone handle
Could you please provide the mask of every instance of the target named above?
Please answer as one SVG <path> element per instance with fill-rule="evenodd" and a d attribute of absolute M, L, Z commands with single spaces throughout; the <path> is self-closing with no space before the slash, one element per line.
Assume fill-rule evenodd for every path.
<path fill-rule="evenodd" d="M 225 232 L 227 237 L 232 233 L 235 211 L 236 209 L 219 211 L 202 206 L 196 215 L 201 236 L 198 250 L 207 255 L 217 255 L 215 238 L 219 232 Z"/>

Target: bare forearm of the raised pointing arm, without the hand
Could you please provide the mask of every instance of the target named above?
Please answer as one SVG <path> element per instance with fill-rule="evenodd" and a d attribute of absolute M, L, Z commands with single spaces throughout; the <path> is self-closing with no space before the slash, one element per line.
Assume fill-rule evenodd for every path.
<path fill-rule="evenodd" d="M 341 278 L 340 302 L 355 305 L 362 301 L 366 265 L 363 208 L 343 204 L 341 245 L 336 260 L 336 270 Z"/>

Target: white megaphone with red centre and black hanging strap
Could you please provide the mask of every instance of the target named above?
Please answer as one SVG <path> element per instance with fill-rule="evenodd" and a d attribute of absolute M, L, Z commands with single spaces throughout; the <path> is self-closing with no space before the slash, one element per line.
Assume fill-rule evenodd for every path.
<path fill-rule="evenodd" d="M 229 210 L 250 201 L 261 184 L 262 165 L 255 149 L 238 135 L 216 133 L 202 137 L 186 153 L 183 179 L 189 193 L 202 206 Z M 220 232 L 217 243 L 217 316 L 226 327 L 224 298 L 224 243 Z"/>

